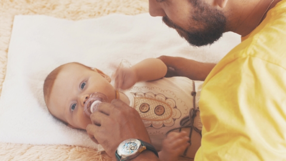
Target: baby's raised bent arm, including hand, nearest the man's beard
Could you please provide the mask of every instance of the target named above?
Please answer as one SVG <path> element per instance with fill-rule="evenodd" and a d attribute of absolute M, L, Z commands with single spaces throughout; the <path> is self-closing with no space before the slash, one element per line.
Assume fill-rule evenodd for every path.
<path fill-rule="evenodd" d="M 163 78 L 167 66 L 157 58 L 148 58 L 131 66 L 119 66 L 115 73 L 115 88 L 127 89 L 138 81 L 153 81 Z"/>

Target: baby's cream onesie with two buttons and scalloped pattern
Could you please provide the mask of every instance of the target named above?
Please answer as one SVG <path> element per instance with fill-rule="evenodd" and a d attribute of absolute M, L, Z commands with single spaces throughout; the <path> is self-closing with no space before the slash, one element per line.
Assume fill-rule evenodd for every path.
<path fill-rule="evenodd" d="M 138 111 L 152 145 L 160 150 L 167 131 L 181 127 L 180 121 L 189 118 L 191 109 L 197 109 L 202 85 L 203 81 L 172 77 L 138 82 L 130 89 L 120 92 L 129 98 L 129 106 Z M 196 122 L 196 127 L 202 129 L 200 119 Z M 200 142 L 200 139 L 196 140 Z"/>

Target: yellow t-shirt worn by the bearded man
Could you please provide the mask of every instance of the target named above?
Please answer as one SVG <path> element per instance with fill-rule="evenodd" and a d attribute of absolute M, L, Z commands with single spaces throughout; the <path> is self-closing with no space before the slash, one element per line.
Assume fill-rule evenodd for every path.
<path fill-rule="evenodd" d="M 210 72 L 195 161 L 286 161 L 286 0 Z"/>

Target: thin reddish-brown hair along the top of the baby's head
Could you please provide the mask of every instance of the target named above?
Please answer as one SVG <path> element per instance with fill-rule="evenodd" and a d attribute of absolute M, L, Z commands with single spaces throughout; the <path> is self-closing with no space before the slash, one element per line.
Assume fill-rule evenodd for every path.
<path fill-rule="evenodd" d="M 77 63 L 77 62 L 72 62 L 72 63 L 67 63 L 67 64 L 79 64 L 79 65 L 82 65 L 90 70 L 92 70 L 90 67 L 86 66 L 86 65 L 83 65 L 83 64 L 80 64 L 80 63 Z M 46 105 L 48 107 L 48 102 L 49 102 L 49 99 L 50 99 L 50 94 L 51 94 L 51 91 L 52 91 L 52 88 L 54 86 L 54 83 L 55 83 L 55 80 L 57 79 L 59 73 L 62 71 L 62 69 L 67 65 L 67 64 L 63 64 L 63 65 L 60 65 L 58 66 L 57 68 L 55 68 L 53 71 L 51 71 L 47 78 L 45 79 L 44 81 L 44 87 L 43 87 L 43 92 L 44 92 L 44 98 L 45 98 L 45 102 L 46 102 Z M 51 113 L 51 111 L 49 110 L 48 108 L 48 111 Z M 54 115 L 53 113 L 51 113 L 52 115 Z M 59 119 L 60 121 L 62 121 L 63 123 L 67 124 L 66 122 L 64 122 L 63 120 L 61 120 L 60 118 L 57 118 Z"/>

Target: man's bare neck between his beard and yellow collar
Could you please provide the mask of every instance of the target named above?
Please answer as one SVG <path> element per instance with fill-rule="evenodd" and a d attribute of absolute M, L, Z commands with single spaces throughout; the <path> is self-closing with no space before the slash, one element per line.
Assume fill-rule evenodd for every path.
<path fill-rule="evenodd" d="M 257 27 L 259 21 L 265 18 L 267 12 L 281 0 L 274 0 L 272 3 L 271 1 L 247 0 L 244 3 L 241 0 L 231 1 L 229 13 L 232 15 L 227 15 L 228 31 L 236 32 L 241 36 L 248 35 Z"/>

